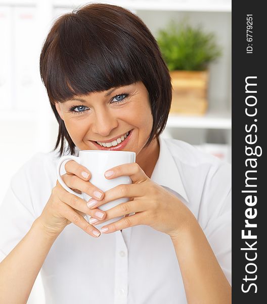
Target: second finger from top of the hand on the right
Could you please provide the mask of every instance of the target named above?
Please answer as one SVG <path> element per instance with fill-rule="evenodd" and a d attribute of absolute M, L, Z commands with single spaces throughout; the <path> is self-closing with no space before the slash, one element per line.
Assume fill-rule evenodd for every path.
<path fill-rule="evenodd" d="M 120 198 L 129 198 L 129 200 L 131 201 L 133 198 L 143 197 L 145 195 L 146 195 L 145 185 L 120 184 L 115 186 L 114 188 L 107 190 L 105 192 L 105 197 L 102 200 L 95 201 L 94 199 L 90 199 L 88 201 L 88 206 L 90 206 L 91 208 L 96 208 Z M 90 205 L 91 203 L 93 206 Z"/>

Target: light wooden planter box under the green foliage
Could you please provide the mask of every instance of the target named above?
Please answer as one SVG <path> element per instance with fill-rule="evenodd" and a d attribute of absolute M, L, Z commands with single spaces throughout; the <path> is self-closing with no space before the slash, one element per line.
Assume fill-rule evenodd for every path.
<path fill-rule="evenodd" d="M 170 113 L 204 115 L 208 106 L 208 71 L 170 71 L 170 77 Z"/>

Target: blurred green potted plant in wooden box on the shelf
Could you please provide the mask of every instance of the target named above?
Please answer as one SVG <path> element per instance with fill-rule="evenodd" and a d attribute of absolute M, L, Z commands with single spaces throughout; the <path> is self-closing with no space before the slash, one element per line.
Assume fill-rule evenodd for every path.
<path fill-rule="evenodd" d="M 186 20 L 170 21 L 157 42 L 172 81 L 170 112 L 203 115 L 207 110 L 208 64 L 221 55 L 214 33 Z"/>

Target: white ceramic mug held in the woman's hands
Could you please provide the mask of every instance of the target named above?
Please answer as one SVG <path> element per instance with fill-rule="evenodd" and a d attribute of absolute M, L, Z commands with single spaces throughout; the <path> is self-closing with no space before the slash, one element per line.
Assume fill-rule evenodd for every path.
<path fill-rule="evenodd" d="M 72 193 L 81 199 L 85 200 L 86 202 L 90 200 L 92 197 L 87 195 L 86 193 L 78 194 L 74 192 L 72 189 L 70 189 L 63 181 L 61 177 L 61 165 L 65 161 L 74 160 L 78 164 L 86 167 L 91 172 L 91 179 L 89 182 L 91 182 L 93 185 L 101 189 L 103 192 L 106 192 L 107 190 L 114 188 L 115 186 L 119 184 L 130 184 L 132 183 L 132 180 L 129 176 L 119 176 L 112 179 L 107 179 L 104 175 L 104 173 L 116 166 L 122 165 L 122 164 L 130 164 L 135 163 L 136 161 L 136 153 L 130 152 L 130 151 L 112 151 L 112 150 L 80 150 L 79 156 L 72 156 L 67 155 L 60 158 L 58 166 L 57 166 L 57 177 L 60 184 L 63 186 L 63 188 L 66 189 L 69 193 Z M 111 209 L 121 203 L 125 203 L 129 200 L 129 198 L 120 198 L 117 200 L 114 200 L 112 202 L 108 202 L 104 205 L 99 206 L 98 208 L 102 211 L 106 211 L 108 209 Z M 85 204 L 85 202 L 84 202 Z M 85 216 L 87 221 L 89 221 L 90 217 L 89 215 Z M 112 222 L 115 222 L 124 216 L 111 218 L 101 224 L 94 225 L 98 229 L 100 226 L 110 224 Z"/>

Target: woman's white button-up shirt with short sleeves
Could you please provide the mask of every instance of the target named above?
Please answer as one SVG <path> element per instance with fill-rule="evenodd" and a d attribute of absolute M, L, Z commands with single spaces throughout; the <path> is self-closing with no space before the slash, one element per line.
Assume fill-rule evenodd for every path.
<path fill-rule="evenodd" d="M 151 179 L 193 212 L 231 282 L 231 165 L 184 141 L 160 136 L 159 143 Z M 0 207 L 0 260 L 41 214 L 58 160 L 55 152 L 37 153 L 13 176 Z M 170 237 L 146 225 L 93 238 L 70 224 L 40 273 L 48 304 L 187 303 Z"/>

